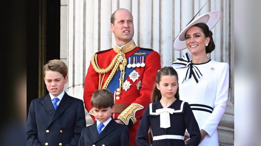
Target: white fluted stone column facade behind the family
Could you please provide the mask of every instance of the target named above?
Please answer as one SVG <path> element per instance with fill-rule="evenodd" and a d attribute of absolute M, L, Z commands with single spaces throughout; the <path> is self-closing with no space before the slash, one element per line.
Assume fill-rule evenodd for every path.
<path fill-rule="evenodd" d="M 173 40 L 207 0 L 61 0 L 60 58 L 68 65 L 66 91 L 83 100 L 84 80 L 90 57 L 115 43 L 110 31 L 110 16 L 118 8 L 132 12 L 134 41 L 137 46 L 153 48 L 161 65 L 171 66 L 187 49 L 175 51 Z M 197 16 L 220 10 L 222 16 L 211 30 L 216 45 L 208 54 L 212 60 L 229 63 L 229 100 L 218 126 L 220 145 L 234 143 L 234 1 L 209 0 Z M 196 16 L 196 17 L 197 17 Z M 86 113 L 87 124 L 93 120 Z"/>

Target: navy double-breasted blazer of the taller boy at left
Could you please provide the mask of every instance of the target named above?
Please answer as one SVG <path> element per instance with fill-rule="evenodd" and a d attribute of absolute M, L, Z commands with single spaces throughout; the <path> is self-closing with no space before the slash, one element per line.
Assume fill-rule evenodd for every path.
<path fill-rule="evenodd" d="M 32 100 L 27 119 L 27 145 L 77 146 L 86 127 L 83 101 L 64 93 L 57 109 L 50 94 Z"/>

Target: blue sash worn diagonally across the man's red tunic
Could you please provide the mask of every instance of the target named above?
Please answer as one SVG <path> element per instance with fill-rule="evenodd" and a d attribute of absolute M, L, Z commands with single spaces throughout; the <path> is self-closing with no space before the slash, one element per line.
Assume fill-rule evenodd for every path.
<path fill-rule="evenodd" d="M 135 53 L 139 53 L 139 52 L 142 52 L 142 53 L 146 53 L 144 55 L 141 55 L 141 56 L 144 56 L 146 57 L 149 53 L 152 52 L 152 50 L 146 50 L 146 49 L 142 49 L 140 48 L 139 50 L 137 50 L 136 52 L 134 52 L 130 57 L 135 57 L 135 56 L 139 56 L 139 55 L 134 55 Z M 128 60 L 128 59 L 127 59 Z M 145 59 L 144 59 L 145 61 Z M 136 68 L 136 67 L 135 67 Z M 135 68 L 126 68 L 125 67 L 125 76 L 124 76 L 124 81 L 126 80 L 126 78 L 131 74 L 131 72 L 135 69 Z M 110 90 L 112 93 L 114 93 L 114 91 L 116 91 L 117 88 L 119 88 L 119 78 L 120 78 L 120 75 L 121 75 L 121 70 L 118 70 L 113 78 L 111 79 L 107 89 Z M 123 82 L 124 82 L 123 81 Z"/>

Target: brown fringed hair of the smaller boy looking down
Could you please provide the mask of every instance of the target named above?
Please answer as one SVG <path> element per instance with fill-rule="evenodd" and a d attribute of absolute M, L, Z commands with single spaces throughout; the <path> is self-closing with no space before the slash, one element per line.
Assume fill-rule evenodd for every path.
<path fill-rule="evenodd" d="M 93 93 L 91 104 L 94 108 L 112 108 L 114 105 L 113 94 L 108 89 L 100 89 Z"/>

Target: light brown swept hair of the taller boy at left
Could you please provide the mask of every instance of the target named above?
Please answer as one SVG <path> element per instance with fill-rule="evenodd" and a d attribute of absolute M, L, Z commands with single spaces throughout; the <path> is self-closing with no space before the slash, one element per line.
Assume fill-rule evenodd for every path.
<path fill-rule="evenodd" d="M 63 77 L 65 78 L 67 76 L 67 72 L 68 72 L 68 68 L 66 66 L 66 64 L 58 59 L 53 59 L 48 61 L 48 63 L 46 65 L 43 66 L 43 72 L 44 72 L 44 76 L 46 74 L 47 71 L 57 71 L 59 73 L 61 73 L 63 75 Z"/>

